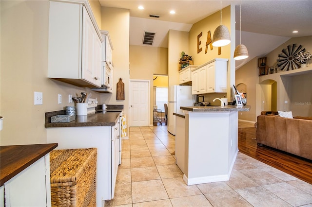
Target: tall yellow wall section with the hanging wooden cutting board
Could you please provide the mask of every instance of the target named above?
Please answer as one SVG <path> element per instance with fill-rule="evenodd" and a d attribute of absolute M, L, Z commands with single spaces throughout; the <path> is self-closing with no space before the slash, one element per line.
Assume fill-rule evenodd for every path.
<path fill-rule="evenodd" d="M 129 19 L 128 9 L 102 7 L 102 30 L 109 31 L 113 44 L 113 93 L 101 94 L 100 104 L 121 104 L 124 106 L 124 113 L 129 117 Z M 124 83 L 125 100 L 117 101 L 116 87 L 122 78 Z"/>

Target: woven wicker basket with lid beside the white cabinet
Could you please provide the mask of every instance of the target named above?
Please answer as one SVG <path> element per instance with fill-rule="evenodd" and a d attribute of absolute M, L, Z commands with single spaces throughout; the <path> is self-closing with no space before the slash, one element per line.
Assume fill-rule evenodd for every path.
<path fill-rule="evenodd" d="M 95 207 L 96 172 L 96 148 L 51 151 L 52 207 Z"/>

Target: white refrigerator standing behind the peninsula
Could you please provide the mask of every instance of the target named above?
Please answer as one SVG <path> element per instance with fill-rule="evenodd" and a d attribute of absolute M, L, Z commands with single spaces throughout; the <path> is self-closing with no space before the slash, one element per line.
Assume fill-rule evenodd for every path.
<path fill-rule="evenodd" d="M 196 95 L 192 95 L 192 86 L 170 86 L 168 96 L 168 132 L 176 135 L 176 116 L 183 113 L 181 106 L 194 106 Z"/>

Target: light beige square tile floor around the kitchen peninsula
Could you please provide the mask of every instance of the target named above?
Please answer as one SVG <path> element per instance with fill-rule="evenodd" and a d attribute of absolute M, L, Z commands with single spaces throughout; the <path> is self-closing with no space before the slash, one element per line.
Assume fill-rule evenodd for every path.
<path fill-rule="evenodd" d="M 312 207 L 312 185 L 238 153 L 229 181 L 187 186 L 167 126 L 131 127 L 114 199 L 121 207 Z"/>

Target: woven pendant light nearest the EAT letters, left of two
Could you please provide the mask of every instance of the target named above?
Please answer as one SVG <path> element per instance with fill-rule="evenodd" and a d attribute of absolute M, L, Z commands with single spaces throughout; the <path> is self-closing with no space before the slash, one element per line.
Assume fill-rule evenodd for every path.
<path fill-rule="evenodd" d="M 229 29 L 222 25 L 222 1 L 220 2 L 221 24 L 215 29 L 213 46 L 222 47 L 231 43 Z"/>

